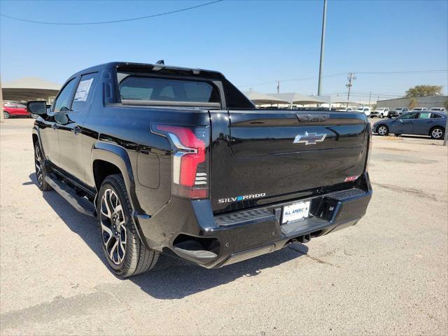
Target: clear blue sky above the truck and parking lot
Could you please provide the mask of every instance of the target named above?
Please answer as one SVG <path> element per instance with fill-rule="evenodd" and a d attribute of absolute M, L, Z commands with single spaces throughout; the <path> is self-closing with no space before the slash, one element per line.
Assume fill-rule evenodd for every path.
<path fill-rule="evenodd" d="M 0 10 L 29 20 L 94 22 L 205 2 L 2 0 Z M 0 17 L 1 80 L 37 76 L 63 83 L 94 64 L 165 59 L 221 71 L 241 90 L 274 92 L 281 80 L 281 92 L 316 94 L 322 10 L 321 0 L 228 0 L 111 25 L 36 25 Z M 448 1 L 330 0 L 327 14 L 324 76 L 448 69 Z M 294 78 L 312 79 L 287 80 Z M 345 84 L 345 74 L 323 78 L 323 94 L 346 92 Z M 419 84 L 444 85 L 446 93 L 448 73 L 358 73 L 352 90 L 402 94 Z"/>

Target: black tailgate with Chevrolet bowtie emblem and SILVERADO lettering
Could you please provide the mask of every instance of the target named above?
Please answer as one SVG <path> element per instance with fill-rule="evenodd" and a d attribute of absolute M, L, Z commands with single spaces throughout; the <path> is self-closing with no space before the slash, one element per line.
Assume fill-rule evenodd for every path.
<path fill-rule="evenodd" d="M 211 116 L 212 129 L 227 139 L 226 148 L 211 149 L 216 213 L 313 195 L 365 169 L 364 113 L 246 110 L 228 116 L 227 127 Z"/>

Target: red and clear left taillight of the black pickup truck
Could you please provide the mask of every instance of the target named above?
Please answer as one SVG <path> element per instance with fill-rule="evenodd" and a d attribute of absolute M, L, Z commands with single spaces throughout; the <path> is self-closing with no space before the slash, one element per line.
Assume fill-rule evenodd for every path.
<path fill-rule="evenodd" d="M 192 199 L 209 197 L 209 127 L 153 124 L 151 131 L 167 137 L 172 144 L 172 194 Z"/>

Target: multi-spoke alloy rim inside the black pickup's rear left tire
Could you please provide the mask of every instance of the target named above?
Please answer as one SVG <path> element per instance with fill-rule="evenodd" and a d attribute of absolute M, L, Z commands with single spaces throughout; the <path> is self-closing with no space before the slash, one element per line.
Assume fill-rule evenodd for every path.
<path fill-rule="evenodd" d="M 118 195 L 111 188 L 104 191 L 100 212 L 99 220 L 106 254 L 115 265 L 120 265 L 126 255 L 125 214 Z"/>

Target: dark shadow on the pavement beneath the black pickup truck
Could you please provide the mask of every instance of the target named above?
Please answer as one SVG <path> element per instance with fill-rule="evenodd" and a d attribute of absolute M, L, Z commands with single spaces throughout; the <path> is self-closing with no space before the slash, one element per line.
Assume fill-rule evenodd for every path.
<path fill-rule="evenodd" d="M 31 181 L 27 181 L 23 185 L 34 183 L 37 186 L 35 174 L 30 174 L 29 179 Z M 97 221 L 92 217 L 80 214 L 54 190 L 42 193 L 42 195 L 69 229 L 79 235 L 102 260 L 104 267 L 109 267 L 104 260 Z M 257 276 L 264 269 L 307 255 L 308 247 L 303 244 L 295 243 L 290 247 L 219 269 L 205 269 L 167 255 L 160 255 L 158 264 L 151 272 L 132 276 L 126 280 L 132 281 L 145 293 L 155 298 L 180 299 L 239 278 Z"/>

